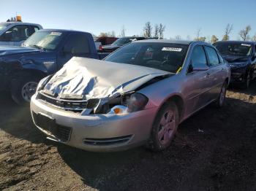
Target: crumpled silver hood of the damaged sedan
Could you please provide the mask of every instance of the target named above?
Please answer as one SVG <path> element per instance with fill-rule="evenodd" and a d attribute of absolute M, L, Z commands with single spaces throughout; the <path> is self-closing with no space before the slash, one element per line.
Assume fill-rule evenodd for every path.
<path fill-rule="evenodd" d="M 171 74 L 124 63 L 73 57 L 45 85 L 43 91 L 59 98 L 107 98 L 135 90 L 154 77 Z M 85 97 L 84 97 L 85 96 Z"/>

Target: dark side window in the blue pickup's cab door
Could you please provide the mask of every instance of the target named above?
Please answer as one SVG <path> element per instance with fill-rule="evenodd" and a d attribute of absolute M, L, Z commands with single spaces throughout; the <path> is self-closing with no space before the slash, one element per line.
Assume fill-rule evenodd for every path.
<path fill-rule="evenodd" d="M 88 39 L 83 34 L 69 35 L 64 46 L 64 52 L 69 52 L 72 55 L 89 53 Z"/>

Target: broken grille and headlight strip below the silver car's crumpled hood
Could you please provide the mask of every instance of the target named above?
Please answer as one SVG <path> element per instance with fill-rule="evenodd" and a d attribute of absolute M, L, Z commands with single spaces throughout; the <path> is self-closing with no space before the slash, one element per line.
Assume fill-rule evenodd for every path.
<path fill-rule="evenodd" d="M 148 103 L 145 95 L 135 92 L 124 93 L 116 98 L 55 98 L 43 91 L 37 93 L 37 99 L 56 108 L 70 112 L 86 114 L 127 114 L 143 109 Z"/>

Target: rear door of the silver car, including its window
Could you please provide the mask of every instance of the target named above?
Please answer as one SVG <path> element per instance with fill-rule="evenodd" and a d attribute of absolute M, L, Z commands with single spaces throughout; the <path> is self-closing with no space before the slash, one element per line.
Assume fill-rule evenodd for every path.
<path fill-rule="evenodd" d="M 222 88 L 224 75 L 223 61 L 220 58 L 213 47 L 205 46 L 206 55 L 208 58 L 208 74 L 209 79 L 211 79 L 211 90 L 209 90 L 209 101 L 216 99 L 219 96 L 220 90 Z"/>

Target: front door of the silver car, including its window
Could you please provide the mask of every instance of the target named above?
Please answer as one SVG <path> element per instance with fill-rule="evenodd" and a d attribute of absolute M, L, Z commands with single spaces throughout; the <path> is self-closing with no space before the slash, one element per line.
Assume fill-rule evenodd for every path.
<path fill-rule="evenodd" d="M 205 106 L 209 100 L 211 79 L 208 71 L 192 71 L 192 68 L 207 68 L 208 63 L 203 46 L 197 45 L 194 47 L 189 65 L 184 90 L 187 95 L 187 115 Z"/>

